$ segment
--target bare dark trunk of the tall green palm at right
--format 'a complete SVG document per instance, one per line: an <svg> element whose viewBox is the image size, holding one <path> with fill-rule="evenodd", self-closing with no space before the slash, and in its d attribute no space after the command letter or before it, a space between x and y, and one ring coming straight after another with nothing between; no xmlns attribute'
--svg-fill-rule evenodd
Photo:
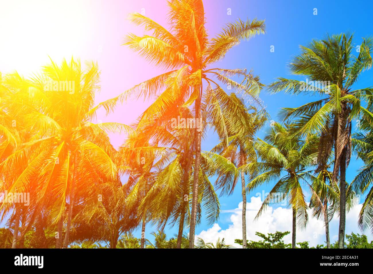
<svg viewBox="0 0 373 274"><path fill-rule="evenodd" d="M345 227L346 227L346 148L343 149L341 155L341 178L340 190L341 193L339 202L339 233L338 247L345 248Z"/></svg>

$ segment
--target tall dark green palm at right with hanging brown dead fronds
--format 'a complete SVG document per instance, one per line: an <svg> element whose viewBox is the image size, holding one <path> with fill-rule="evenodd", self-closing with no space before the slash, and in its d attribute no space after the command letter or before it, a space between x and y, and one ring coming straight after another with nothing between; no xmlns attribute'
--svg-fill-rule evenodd
<svg viewBox="0 0 373 274"><path fill-rule="evenodd" d="M306 81L278 78L269 86L272 92L285 91L292 94L319 95L320 99L298 108L285 108L283 119L302 117L298 124L300 133L307 136L322 134L323 146L334 148L333 183L339 176L340 217L339 248L344 248L346 223L346 169L351 154L351 121L366 113L361 99L370 96L372 88L352 90L359 75L372 67L373 39L363 39L357 56L352 54L355 46L353 35L327 35L323 40L313 40L307 47L300 46L301 54L290 63L295 75L307 77ZM319 159L320 161L320 159Z"/></svg>

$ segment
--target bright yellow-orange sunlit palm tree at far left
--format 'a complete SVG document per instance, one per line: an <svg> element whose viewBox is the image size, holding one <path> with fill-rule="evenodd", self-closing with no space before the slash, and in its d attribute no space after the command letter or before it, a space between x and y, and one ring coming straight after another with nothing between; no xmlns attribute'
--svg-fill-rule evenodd
<svg viewBox="0 0 373 274"><path fill-rule="evenodd" d="M87 193L88 186L97 178L116 180L116 151L106 131L131 130L119 123L90 122L95 117L93 104L98 81L96 64L88 64L87 71L82 71L79 61L63 60L61 66L52 61L43 73L31 80L18 74L9 76L6 100L1 102L10 117L25 121L21 126L31 136L0 163L1 174L8 178L6 189L19 193L34 189L33 202L38 205L35 214L51 206L51 224L63 218L67 203L65 248L69 242L75 193L81 190ZM53 84L57 91L50 88L50 83L57 83ZM68 84L61 89L62 83ZM51 193L53 199L50 199ZM6 205L1 205L4 207Z"/></svg>

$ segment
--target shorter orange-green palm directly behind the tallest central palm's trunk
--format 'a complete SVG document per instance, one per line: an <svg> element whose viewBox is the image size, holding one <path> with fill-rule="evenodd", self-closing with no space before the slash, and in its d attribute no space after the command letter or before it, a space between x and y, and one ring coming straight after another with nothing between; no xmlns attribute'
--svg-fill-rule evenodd
<svg viewBox="0 0 373 274"><path fill-rule="evenodd" d="M183 230L186 223L190 220L189 201L192 194L192 184L190 175L193 171L193 150L194 129L191 127L176 126L170 123L172 117L178 113L180 119L192 119L192 113L189 108L178 107L170 108L167 113L156 117L151 123L143 129L137 128L141 133L138 138L154 139L163 149L163 154L159 161L154 164L158 170L156 183L148 191L147 195L140 204L150 207L150 212L155 223L161 230L170 220L170 226L179 222L179 232L177 237L177 248L181 248L183 239ZM215 165L206 161L204 153L201 154L201 169L199 174L197 204L197 222L201 219L201 207L204 207L207 213L209 224L214 223L219 216L219 201L213 186L209 181L209 174L214 173Z"/></svg>

